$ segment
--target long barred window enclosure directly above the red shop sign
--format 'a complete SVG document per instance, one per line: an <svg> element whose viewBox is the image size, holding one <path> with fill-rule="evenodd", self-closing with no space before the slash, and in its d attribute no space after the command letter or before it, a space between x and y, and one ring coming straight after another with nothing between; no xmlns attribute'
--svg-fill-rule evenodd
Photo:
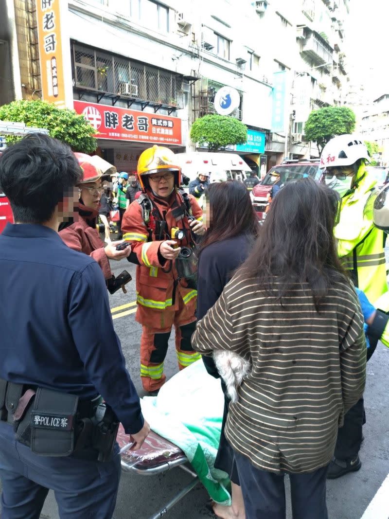
<svg viewBox="0 0 389 519"><path fill-rule="evenodd" d="M129 102L182 108L183 77L99 49L73 44L74 88ZM100 98L100 99L99 99Z"/></svg>

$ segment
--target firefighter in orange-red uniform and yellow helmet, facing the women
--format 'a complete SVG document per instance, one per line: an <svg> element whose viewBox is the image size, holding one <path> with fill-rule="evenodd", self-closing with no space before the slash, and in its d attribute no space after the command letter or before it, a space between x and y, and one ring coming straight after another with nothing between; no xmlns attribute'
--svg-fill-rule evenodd
<svg viewBox="0 0 389 519"><path fill-rule="evenodd" d="M197 290L191 276L184 275L191 270L193 246L205 229L198 202L179 189L181 171L169 148L146 149L139 157L137 175L142 195L124 213L122 230L124 240L131 243L129 261L137 264L142 383L156 394L165 381L163 362L173 324L179 369L201 357L190 342L196 327Z"/></svg>

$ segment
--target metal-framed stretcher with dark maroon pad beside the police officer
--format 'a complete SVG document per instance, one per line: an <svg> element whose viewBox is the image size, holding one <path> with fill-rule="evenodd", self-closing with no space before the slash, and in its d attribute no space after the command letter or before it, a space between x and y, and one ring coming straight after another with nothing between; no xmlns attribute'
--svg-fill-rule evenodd
<svg viewBox="0 0 389 519"><path fill-rule="evenodd" d="M165 503L158 512L150 515L148 519L163 517L199 483L197 474L185 465L188 462L188 458L183 450L169 440L162 438L156 432L150 431L142 447L139 450L132 451L129 450L132 445L130 436L124 432L120 424L117 442L120 448L121 468L124 472L135 472L144 476L152 476L179 467L192 476L192 480L188 485L182 488L173 499Z"/></svg>

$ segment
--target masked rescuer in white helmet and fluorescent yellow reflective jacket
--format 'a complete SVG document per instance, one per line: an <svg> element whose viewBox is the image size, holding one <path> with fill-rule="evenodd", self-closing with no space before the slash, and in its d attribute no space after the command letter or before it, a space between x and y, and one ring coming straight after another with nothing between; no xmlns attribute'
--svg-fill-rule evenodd
<svg viewBox="0 0 389 519"><path fill-rule="evenodd" d="M375 301L387 292L387 282L384 234L374 227L372 214L365 210L377 184L366 170L368 160L366 145L357 136L349 134L331 139L320 159L321 168L325 168L326 184L341 197L339 223L334 231L339 257L355 286ZM371 338L371 342L373 340ZM362 398L346 413L344 425L338 431L335 457L328 469L329 479L360 469L358 453L364 421Z"/></svg>

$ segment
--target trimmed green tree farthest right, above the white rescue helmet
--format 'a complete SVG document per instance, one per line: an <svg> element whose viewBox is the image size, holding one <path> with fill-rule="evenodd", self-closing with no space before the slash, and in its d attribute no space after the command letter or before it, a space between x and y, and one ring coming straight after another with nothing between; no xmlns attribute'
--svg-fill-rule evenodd
<svg viewBox="0 0 389 519"><path fill-rule="evenodd" d="M326 106L309 114L305 122L304 135L307 141L317 144L321 154L324 146L335 135L352 133L355 128L355 114L346 106Z"/></svg>

